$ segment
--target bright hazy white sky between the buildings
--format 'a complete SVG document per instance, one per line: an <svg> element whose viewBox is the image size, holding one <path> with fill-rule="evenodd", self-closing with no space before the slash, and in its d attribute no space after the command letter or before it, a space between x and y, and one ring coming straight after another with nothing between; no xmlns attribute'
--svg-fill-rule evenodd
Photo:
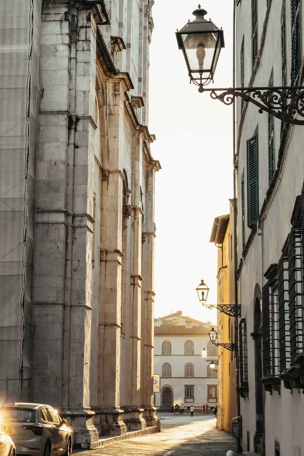
<svg viewBox="0 0 304 456"><path fill-rule="evenodd" d="M206 18L224 30L214 88L232 86L233 1L201 4ZM217 248L209 240L214 218L229 213L233 197L232 108L189 83L175 31L194 19L197 5L155 0L152 8L149 131L162 167L155 175L155 317L182 310L216 322L216 311L203 310L196 286L203 278L210 288L207 304L216 304Z"/></svg>

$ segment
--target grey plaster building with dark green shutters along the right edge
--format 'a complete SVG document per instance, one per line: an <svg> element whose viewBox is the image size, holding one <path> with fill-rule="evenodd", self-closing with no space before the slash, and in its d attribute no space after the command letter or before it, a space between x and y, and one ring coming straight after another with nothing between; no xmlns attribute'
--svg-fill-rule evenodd
<svg viewBox="0 0 304 456"><path fill-rule="evenodd" d="M242 0L236 12L236 87L303 86L304 2ZM248 379L241 399L242 447L267 456L299 455L304 127L261 115L254 104L238 100L237 277Z"/></svg>

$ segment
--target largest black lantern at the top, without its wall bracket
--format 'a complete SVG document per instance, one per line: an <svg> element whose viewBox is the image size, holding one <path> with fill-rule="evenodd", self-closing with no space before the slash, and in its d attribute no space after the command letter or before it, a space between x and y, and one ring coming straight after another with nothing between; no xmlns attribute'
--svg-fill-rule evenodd
<svg viewBox="0 0 304 456"><path fill-rule="evenodd" d="M191 82L199 86L199 92L203 92L203 86L213 81L216 63L224 44L224 33L204 16L207 11L198 9L192 13L195 20L188 23L176 32L179 49L182 49L188 68Z"/></svg>

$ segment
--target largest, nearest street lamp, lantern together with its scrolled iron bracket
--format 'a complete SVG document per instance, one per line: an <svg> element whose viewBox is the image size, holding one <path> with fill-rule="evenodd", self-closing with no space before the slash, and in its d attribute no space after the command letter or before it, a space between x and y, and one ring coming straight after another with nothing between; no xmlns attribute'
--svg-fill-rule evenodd
<svg viewBox="0 0 304 456"><path fill-rule="evenodd" d="M192 14L196 19L189 20L177 31L176 38L185 57L190 83L198 85L199 92L211 92L211 98L227 105L232 104L235 97L240 97L258 106L260 114L266 111L289 124L304 125L303 86L205 88L213 82L216 63L224 47L224 33L213 22L204 19L207 13L201 5ZM302 119L294 119L294 114L299 114Z"/></svg>

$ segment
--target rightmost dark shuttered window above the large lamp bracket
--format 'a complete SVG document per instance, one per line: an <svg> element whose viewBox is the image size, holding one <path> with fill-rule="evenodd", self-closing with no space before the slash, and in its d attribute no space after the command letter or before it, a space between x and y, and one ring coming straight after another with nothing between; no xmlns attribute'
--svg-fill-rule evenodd
<svg viewBox="0 0 304 456"><path fill-rule="evenodd" d="M295 85L301 67L301 18L300 0L291 0L291 85Z"/></svg>

